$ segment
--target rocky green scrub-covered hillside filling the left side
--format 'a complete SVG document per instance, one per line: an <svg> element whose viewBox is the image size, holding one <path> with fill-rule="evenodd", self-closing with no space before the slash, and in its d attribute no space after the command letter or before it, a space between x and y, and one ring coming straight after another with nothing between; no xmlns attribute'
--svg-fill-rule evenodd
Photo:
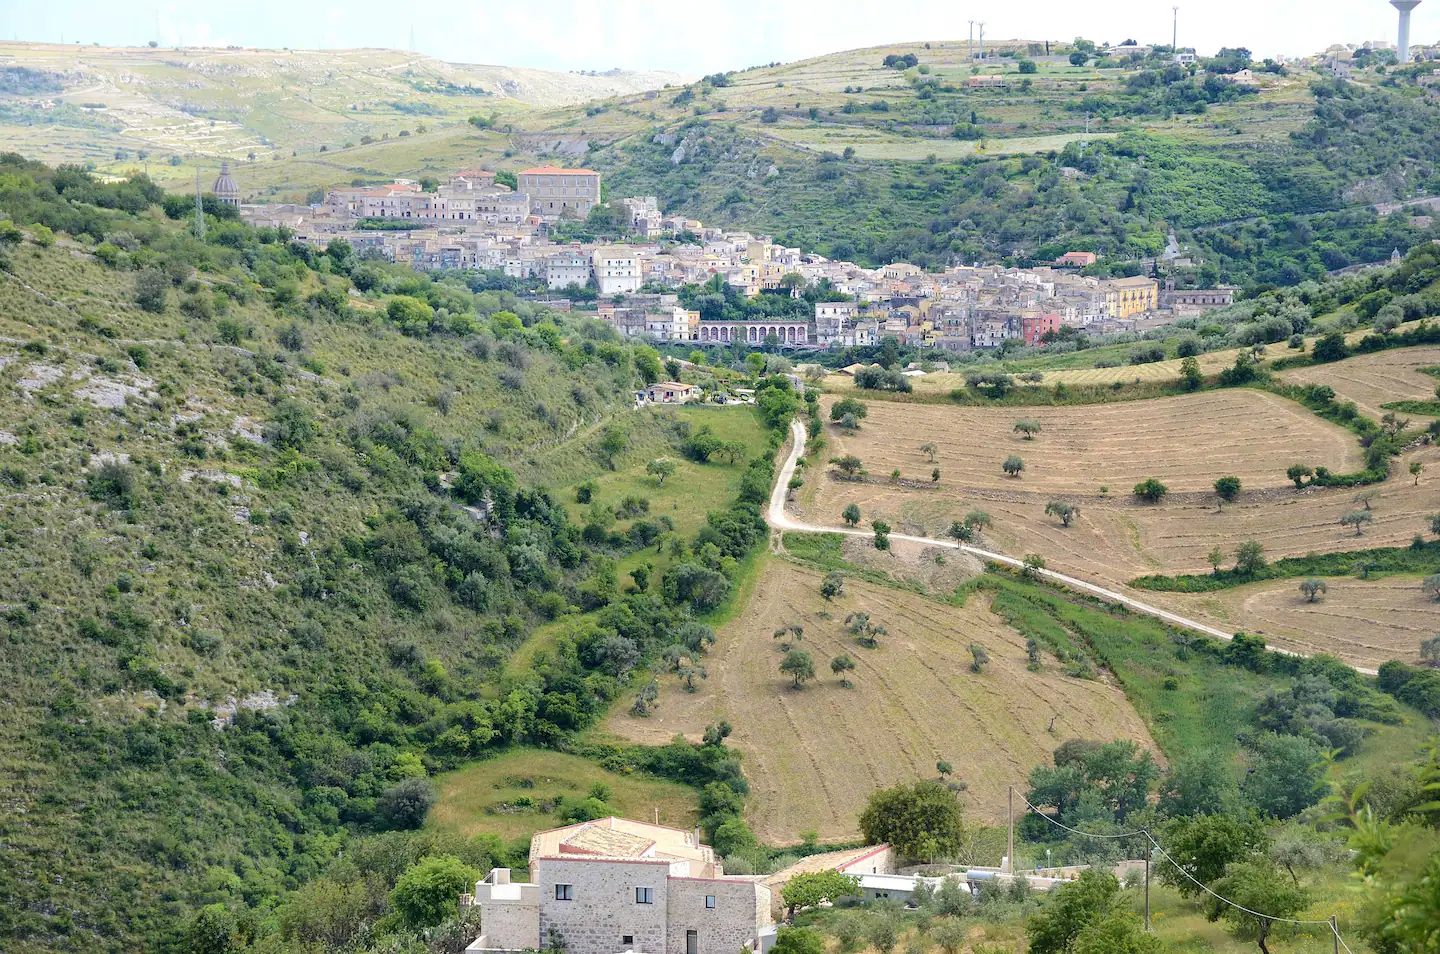
<svg viewBox="0 0 1440 954"><path fill-rule="evenodd" d="M144 179L0 157L0 945L454 941L425 886L516 849L413 833L428 777L573 748L662 650L703 653L770 453L706 464L740 496L693 536L638 503L572 520L547 483L690 434L631 411L654 352L212 212L202 241ZM798 406L783 378L760 395L770 425ZM622 581L651 546L662 576ZM592 755L719 784L714 829L743 803L723 742Z"/></svg>

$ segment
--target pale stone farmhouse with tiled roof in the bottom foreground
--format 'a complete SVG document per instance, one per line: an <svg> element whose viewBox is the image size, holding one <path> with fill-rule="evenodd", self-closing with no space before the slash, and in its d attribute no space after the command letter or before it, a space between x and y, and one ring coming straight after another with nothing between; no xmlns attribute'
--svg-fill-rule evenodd
<svg viewBox="0 0 1440 954"><path fill-rule="evenodd" d="M697 833L615 817L539 832L528 882L497 868L461 905L485 931L469 951L737 954L772 934L770 889L727 876Z"/></svg>

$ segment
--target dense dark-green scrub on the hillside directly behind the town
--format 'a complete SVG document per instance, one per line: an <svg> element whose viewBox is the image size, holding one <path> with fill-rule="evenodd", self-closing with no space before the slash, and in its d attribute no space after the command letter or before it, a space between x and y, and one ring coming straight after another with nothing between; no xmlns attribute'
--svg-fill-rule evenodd
<svg viewBox="0 0 1440 954"><path fill-rule="evenodd" d="M596 148L588 161L619 193L657 195L667 209L707 223L744 225L870 265L1048 261L1073 248L1125 265L1158 255L1175 228L1205 255L1201 284L1293 285L1436 235L1405 216L1354 208L1436 189L1427 138L1440 128L1436 102L1414 88L1338 79L1310 92L1315 110L1303 130L1244 150L1123 133L1025 157L906 163L821 153L776 161L746 127L697 115ZM1155 68L1063 105L1099 118L1169 115L1246 97L1220 76L1197 82L1178 68ZM973 117L963 98L945 107L935 97L876 104L888 107L887 124L913 107L920 112L910 121L953 124L956 134ZM865 124L848 115L844 122Z"/></svg>

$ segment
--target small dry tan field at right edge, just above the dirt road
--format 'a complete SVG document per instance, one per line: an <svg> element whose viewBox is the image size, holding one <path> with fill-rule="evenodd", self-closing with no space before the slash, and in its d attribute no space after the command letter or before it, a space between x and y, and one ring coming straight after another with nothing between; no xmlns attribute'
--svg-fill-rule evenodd
<svg viewBox="0 0 1440 954"><path fill-rule="evenodd" d="M1440 611L1414 576L1328 579L1329 592L1309 602L1297 579L1273 579L1207 594L1146 594L1162 607L1257 633L1267 643L1308 653L1335 653L1377 669L1392 659L1417 661L1420 640L1440 634Z"/></svg>

